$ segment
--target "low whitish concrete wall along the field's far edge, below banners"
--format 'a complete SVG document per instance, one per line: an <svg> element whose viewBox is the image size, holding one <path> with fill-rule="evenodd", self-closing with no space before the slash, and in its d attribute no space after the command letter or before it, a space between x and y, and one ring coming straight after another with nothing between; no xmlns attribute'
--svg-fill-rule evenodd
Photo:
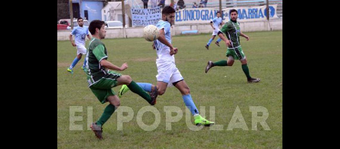
<svg viewBox="0 0 340 149"><path fill-rule="evenodd" d="M240 25L242 32L282 30L282 19L270 20L270 25L267 21L240 22ZM174 25L171 28L171 35L180 35L182 31L190 30L198 30L199 33L212 33L210 24L191 24ZM143 27L129 27L125 28L125 31L123 32L123 29L106 29L105 38L143 37ZM57 40L69 40L70 33L70 30L57 31Z"/></svg>

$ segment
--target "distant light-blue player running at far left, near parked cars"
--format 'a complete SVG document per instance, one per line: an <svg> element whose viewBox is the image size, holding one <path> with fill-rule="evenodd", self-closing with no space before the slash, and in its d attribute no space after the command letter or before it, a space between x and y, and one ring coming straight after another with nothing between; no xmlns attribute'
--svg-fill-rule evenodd
<svg viewBox="0 0 340 149"><path fill-rule="evenodd" d="M72 21L72 20L71 20ZM69 38L73 46L77 46L77 57L74 58L71 66L67 68L67 71L73 74L73 67L75 64L78 63L78 61L82 58L83 54L86 54L86 48L85 48L85 36L87 35L88 39L90 38L90 35L88 34L88 26L84 26L83 18L77 19L78 26L74 27L72 30ZM74 42L72 40L72 35L75 35ZM84 69L86 66L86 59L84 60L84 64L82 69Z"/></svg>

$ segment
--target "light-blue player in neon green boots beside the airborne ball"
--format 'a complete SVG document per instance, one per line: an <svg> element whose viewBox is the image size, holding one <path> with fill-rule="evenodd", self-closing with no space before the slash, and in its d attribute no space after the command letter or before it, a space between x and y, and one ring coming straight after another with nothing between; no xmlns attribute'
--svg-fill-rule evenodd
<svg viewBox="0 0 340 149"><path fill-rule="evenodd" d="M171 44L170 28L174 22L175 10L171 6L165 6L162 10L162 20L159 20L156 24L159 30L159 37L154 41L154 47L157 52L156 66L157 72L157 91L158 95L163 95L167 87L175 86L182 94L183 101L191 114L194 116L194 124L197 126L211 126L215 124L209 120L203 118L195 104L192 101L190 89L184 81L181 72L175 65L174 55L177 53L177 48L174 48ZM148 83L147 85L139 85L145 91L151 91L154 85ZM128 91L126 86L123 86L119 92L120 95Z"/></svg>

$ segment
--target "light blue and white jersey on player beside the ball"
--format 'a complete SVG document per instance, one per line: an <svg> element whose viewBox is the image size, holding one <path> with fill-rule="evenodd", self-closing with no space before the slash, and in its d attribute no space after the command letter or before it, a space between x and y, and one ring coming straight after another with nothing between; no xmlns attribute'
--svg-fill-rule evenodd
<svg viewBox="0 0 340 149"><path fill-rule="evenodd" d="M164 28L165 39L168 40L168 42L171 44L170 23L167 21L159 20L156 26L158 30ZM154 41L154 44L157 52L156 63L161 63L165 61L175 62L175 56L170 55L170 48L167 45L161 43L158 39Z"/></svg>

